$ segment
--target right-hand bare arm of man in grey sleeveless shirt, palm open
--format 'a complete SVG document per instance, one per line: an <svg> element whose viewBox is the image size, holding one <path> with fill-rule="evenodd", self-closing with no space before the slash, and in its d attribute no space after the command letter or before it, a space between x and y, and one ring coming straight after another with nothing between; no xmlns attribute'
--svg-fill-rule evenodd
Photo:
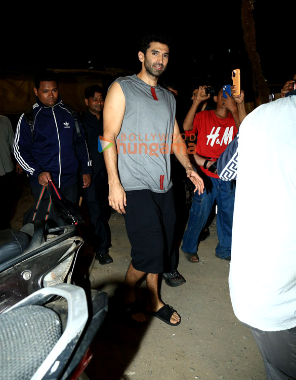
<svg viewBox="0 0 296 380"><path fill-rule="evenodd" d="M176 141L173 142L173 152L180 163L184 166L187 177L190 178L191 182L195 185L194 192L198 190L198 194L203 193L203 180L193 169L193 166L189 160L187 146L180 135L179 126L176 119L174 125L174 135L176 136Z"/></svg>

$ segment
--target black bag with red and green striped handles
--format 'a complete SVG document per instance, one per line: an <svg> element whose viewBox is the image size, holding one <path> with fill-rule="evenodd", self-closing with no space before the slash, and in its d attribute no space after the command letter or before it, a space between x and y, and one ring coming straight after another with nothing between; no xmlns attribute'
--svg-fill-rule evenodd
<svg viewBox="0 0 296 380"><path fill-rule="evenodd" d="M44 199L47 192L49 198ZM83 219L73 203L63 199L51 181L41 189L38 201L25 213L23 225L32 220L44 220L48 228L83 224Z"/></svg>

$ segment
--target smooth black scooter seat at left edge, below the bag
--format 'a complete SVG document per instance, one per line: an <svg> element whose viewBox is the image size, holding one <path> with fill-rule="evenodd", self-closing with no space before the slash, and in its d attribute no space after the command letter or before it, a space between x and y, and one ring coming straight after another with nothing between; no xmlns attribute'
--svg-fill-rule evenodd
<svg viewBox="0 0 296 380"><path fill-rule="evenodd" d="M0 264L23 253L31 243L31 237L17 230L0 231Z"/></svg>

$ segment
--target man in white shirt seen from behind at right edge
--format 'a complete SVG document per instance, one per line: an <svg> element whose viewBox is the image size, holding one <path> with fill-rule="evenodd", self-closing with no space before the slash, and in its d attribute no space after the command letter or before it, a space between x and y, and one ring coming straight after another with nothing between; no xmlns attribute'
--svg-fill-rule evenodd
<svg viewBox="0 0 296 380"><path fill-rule="evenodd" d="M237 178L232 306L272 380L296 378L296 96L290 94L250 113L217 164L221 179Z"/></svg>

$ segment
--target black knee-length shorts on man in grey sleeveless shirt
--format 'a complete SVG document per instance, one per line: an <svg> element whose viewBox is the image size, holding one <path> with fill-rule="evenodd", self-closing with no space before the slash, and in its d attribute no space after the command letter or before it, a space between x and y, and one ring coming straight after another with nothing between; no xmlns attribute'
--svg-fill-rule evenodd
<svg viewBox="0 0 296 380"><path fill-rule="evenodd" d="M176 214L173 189L126 191L125 227L132 246L133 267L162 273L172 253Z"/></svg>

